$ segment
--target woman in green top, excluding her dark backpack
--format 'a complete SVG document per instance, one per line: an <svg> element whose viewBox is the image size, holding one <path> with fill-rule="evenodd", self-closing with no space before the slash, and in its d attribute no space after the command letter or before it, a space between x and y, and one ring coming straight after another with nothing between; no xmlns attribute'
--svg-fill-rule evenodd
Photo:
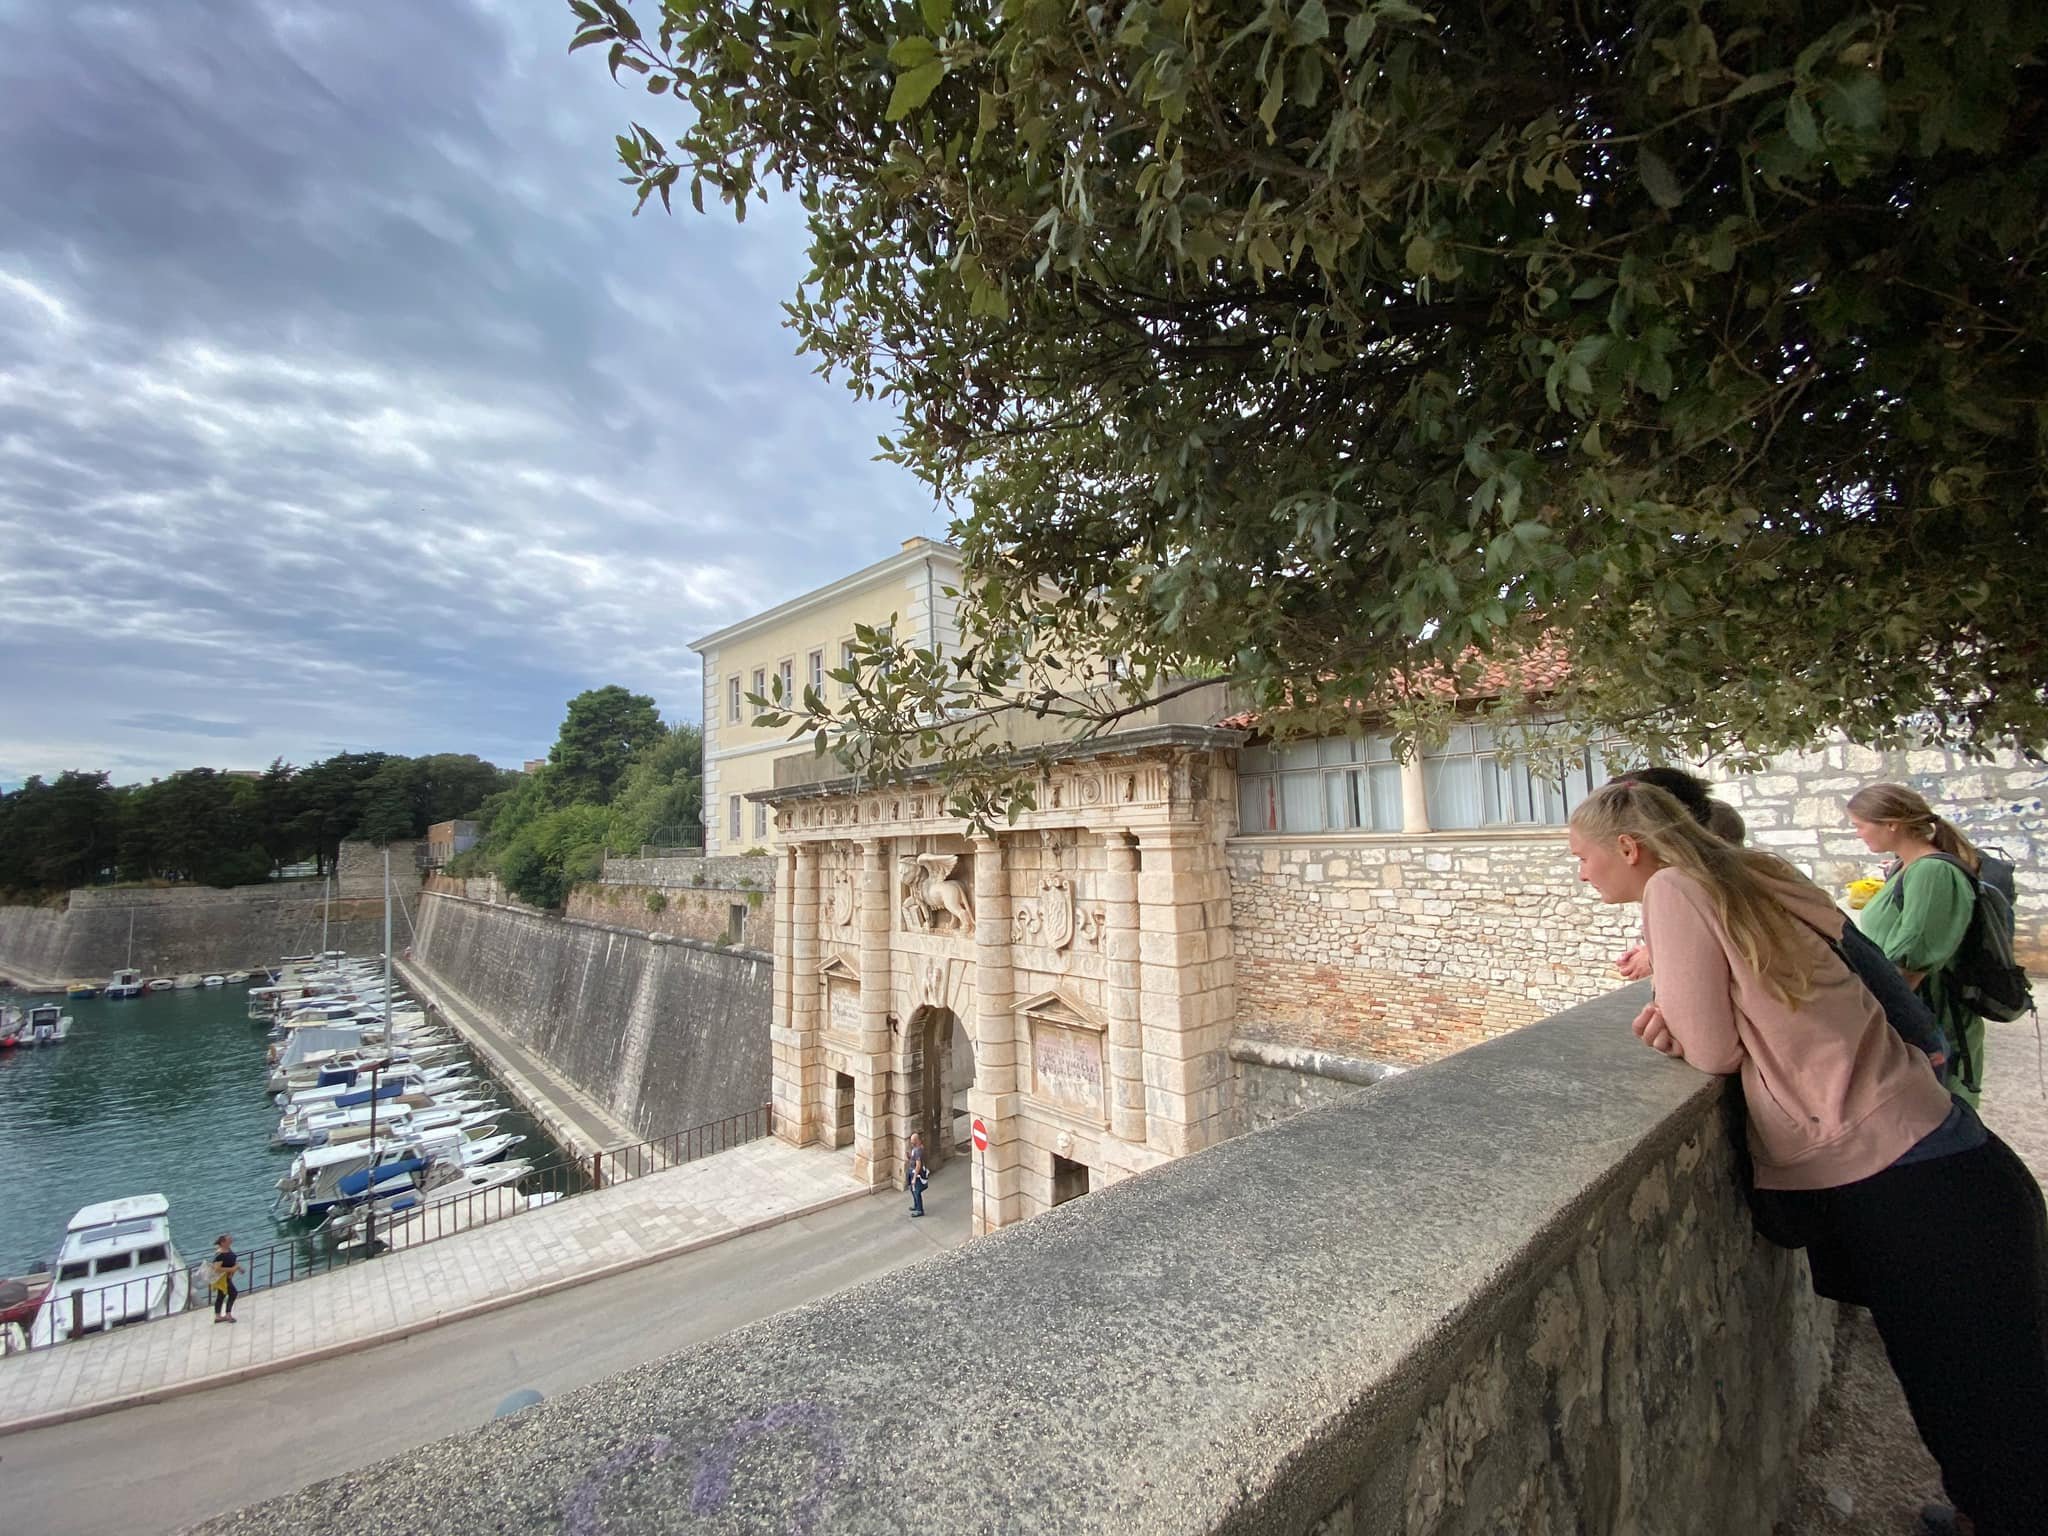
<svg viewBox="0 0 2048 1536"><path fill-rule="evenodd" d="M1933 1012L1948 1036L1950 1090L1976 1108L1985 1087L1985 1020L1962 1006L1948 967L1970 932L1982 860L1968 838L1905 784L1855 791L1849 825L1864 848L1896 860L1884 889L1864 903L1864 934Z"/></svg>

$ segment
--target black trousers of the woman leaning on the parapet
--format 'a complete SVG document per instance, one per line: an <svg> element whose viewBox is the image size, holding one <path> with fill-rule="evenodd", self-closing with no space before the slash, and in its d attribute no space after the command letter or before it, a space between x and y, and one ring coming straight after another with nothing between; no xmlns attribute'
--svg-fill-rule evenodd
<svg viewBox="0 0 2048 1536"><path fill-rule="evenodd" d="M2048 1532L2048 1206L1997 1137L1835 1190L1757 1190L1812 1288L1868 1307L1950 1501L1980 1536Z"/></svg>

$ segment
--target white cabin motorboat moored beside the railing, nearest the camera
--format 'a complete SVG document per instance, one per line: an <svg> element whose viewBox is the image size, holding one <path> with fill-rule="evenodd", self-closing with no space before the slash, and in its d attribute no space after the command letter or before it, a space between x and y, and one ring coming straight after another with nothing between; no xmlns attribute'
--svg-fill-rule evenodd
<svg viewBox="0 0 2048 1536"><path fill-rule="evenodd" d="M170 1200L135 1194L82 1206L63 1229L57 1278L43 1298L29 1337L61 1343L123 1323L180 1313L193 1276L170 1241Z"/></svg>

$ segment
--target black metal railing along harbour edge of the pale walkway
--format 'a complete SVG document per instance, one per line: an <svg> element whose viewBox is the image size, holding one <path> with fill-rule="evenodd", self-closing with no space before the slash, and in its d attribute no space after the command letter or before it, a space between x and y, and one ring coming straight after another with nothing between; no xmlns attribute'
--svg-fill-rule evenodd
<svg viewBox="0 0 2048 1536"><path fill-rule="evenodd" d="M510 1180L494 1188L469 1190L465 1194L442 1194L438 1198L432 1190L428 1190L422 1202L410 1210L371 1210L356 1206L354 1221L350 1221L344 1229L346 1241L322 1245L319 1233L326 1231L326 1227L322 1227L238 1253L240 1268L236 1272L236 1290L244 1296L254 1290L274 1290L276 1286L291 1284L293 1280L309 1280L315 1274L328 1274L330 1270L360 1264L362 1260L399 1247L418 1247L420 1243L430 1243L438 1237L453 1237L498 1221L510 1221L512 1217L526 1214L528 1210L543 1210L575 1194L588 1194L614 1184L631 1184L633 1180L647 1178L649 1174L682 1167L684 1163L692 1163L700 1157L711 1157L713 1153L731 1151L733 1147L741 1147L750 1141L760 1141L772 1133L774 1106L764 1104L758 1110L729 1114L723 1120L690 1126L688 1130L674 1130L666 1137L655 1137L653 1141L639 1141L625 1147L604 1147L590 1153L590 1157L545 1163L528 1169L518 1180ZM483 1167L489 1167L489 1163ZM365 1214L367 1210L369 1214ZM211 1260L188 1264L184 1268L186 1296L184 1305L176 1311L203 1311L213 1305L213 1290L207 1276ZM152 1288L164 1290L162 1305L152 1300ZM70 1343L74 1337L92 1337L94 1333L115 1327L135 1327L139 1323L152 1323L160 1317L170 1317L170 1276L158 1274L139 1280L115 1280L104 1286L88 1286L57 1300L49 1300L45 1296L43 1307L59 1307L68 1311L66 1325L70 1331L61 1339L45 1337L37 1343L35 1319L31 1319L31 1323L25 1325L25 1331L29 1333L27 1348L49 1350L57 1343ZM117 1298L111 1292L123 1294ZM109 1317L113 1321L106 1321ZM49 1331L53 1333L53 1329Z"/></svg>

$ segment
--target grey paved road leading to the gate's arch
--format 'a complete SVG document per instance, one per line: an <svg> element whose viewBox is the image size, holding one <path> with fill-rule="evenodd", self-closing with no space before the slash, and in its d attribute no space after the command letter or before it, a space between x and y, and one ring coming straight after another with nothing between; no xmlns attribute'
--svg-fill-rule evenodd
<svg viewBox="0 0 2048 1536"><path fill-rule="evenodd" d="M926 1198L926 1221L885 1192L401 1343L0 1436L0 1528L172 1532L471 1430L520 1389L559 1397L967 1241L967 1163Z"/></svg>

